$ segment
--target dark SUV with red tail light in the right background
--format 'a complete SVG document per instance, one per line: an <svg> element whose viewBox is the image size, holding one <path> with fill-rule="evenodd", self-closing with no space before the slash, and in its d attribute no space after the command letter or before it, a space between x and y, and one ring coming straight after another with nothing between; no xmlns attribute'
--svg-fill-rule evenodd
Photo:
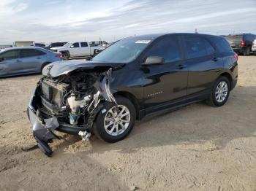
<svg viewBox="0 0 256 191"><path fill-rule="evenodd" d="M255 34L233 34L226 36L227 42L237 53L249 55L252 51L253 41L256 39Z"/></svg>

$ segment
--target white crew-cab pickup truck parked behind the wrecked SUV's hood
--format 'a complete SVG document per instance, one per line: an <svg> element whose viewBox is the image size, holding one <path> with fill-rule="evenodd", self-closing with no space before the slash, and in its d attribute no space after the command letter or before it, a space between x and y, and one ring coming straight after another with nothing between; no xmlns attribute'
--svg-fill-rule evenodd
<svg viewBox="0 0 256 191"><path fill-rule="evenodd" d="M53 52L61 52L64 58L79 56L92 56L97 54L97 50L103 50L102 46L91 46L88 42L68 42L63 47L50 48Z"/></svg>

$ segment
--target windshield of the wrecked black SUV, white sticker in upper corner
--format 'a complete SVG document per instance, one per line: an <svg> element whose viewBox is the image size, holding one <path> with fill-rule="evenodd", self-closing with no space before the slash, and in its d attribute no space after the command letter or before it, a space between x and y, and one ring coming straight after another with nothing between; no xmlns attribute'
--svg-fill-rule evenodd
<svg viewBox="0 0 256 191"><path fill-rule="evenodd" d="M92 61L128 63L134 61L150 42L148 39L122 39L100 52Z"/></svg>

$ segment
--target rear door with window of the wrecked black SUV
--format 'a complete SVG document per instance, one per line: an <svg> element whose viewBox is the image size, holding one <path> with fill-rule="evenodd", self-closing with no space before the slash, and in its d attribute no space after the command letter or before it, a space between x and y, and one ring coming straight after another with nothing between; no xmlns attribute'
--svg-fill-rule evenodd
<svg viewBox="0 0 256 191"><path fill-rule="evenodd" d="M189 70L187 94L210 90L223 68L221 55L204 36L184 36Z"/></svg>

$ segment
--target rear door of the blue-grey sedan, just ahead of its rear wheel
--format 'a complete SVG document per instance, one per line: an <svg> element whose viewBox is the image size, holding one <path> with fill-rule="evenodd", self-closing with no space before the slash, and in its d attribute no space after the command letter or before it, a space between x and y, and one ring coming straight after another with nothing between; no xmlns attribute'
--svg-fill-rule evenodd
<svg viewBox="0 0 256 191"><path fill-rule="evenodd" d="M36 49L20 49L20 61L25 72L39 72L46 53Z"/></svg>

